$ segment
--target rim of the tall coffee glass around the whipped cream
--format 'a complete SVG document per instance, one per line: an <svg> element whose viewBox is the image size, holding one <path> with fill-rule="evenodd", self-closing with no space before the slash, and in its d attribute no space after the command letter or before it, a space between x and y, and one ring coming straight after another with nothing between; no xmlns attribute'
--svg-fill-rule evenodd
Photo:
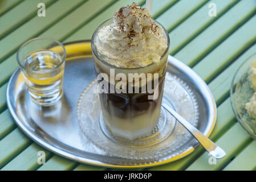
<svg viewBox="0 0 256 182"><path fill-rule="evenodd" d="M97 59L99 59L102 63L107 64L109 67L118 68L118 69L125 69L125 70L127 70L127 69L147 68L147 67L150 67L151 65L155 64L155 63L151 63L151 64L149 64L149 65L147 65L147 66L145 66L145 67L137 67L137 68L122 68L122 67L116 67L116 66L113 65L113 64L107 63L107 61L105 61L104 59L102 59L102 58L100 57L100 55L99 55L99 54L97 53L97 51L96 51L96 47L95 47L95 44L94 44L94 38L95 38L95 36L96 36L97 31L100 30L100 28L103 26L103 24L105 24L106 22L108 22L109 20L112 20L112 19L113 19L113 18L109 18L109 19L105 20L103 23L101 23L101 24L96 28L96 30L94 31L94 34L92 34L91 47L92 47L92 52L93 52L94 55L97 57ZM166 55L166 53L168 53L168 51L169 51L169 47L170 47L169 33L168 33L168 31L164 28L164 26L162 26L161 23L157 22L157 20L155 20L155 19L153 19L153 20L154 20L157 24L159 24L159 25L162 27L162 29L164 30L164 32L165 32L165 34L166 34L167 48L165 49L164 53L162 53L162 55L161 55L161 58L160 58L160 59L162 59L162 57L164 57L164 56Z"/></svg>

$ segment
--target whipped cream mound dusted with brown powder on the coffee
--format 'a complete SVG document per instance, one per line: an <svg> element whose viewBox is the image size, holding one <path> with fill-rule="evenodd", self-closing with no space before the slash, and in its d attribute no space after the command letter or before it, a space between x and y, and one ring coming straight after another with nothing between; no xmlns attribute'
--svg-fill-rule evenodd
<svg viewBox="0 0 256 182"><path fill-rule="evenodd" d="M113 23L100 28L95 38L99 56L121 68L159 63L167 48L163 28L149 11L132 3L113 15Z"/></svg>

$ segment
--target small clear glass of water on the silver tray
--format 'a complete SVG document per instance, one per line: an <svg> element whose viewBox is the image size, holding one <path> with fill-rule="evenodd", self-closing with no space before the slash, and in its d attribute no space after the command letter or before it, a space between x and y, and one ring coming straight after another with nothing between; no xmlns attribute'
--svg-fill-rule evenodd
<svg viewBox="0 0 256 182"><path fill-rule="evenodd" d="M32 101L41 106L56 104L63 96L66 49L52 38L35 38L24 43L17 61Z"/></svg>

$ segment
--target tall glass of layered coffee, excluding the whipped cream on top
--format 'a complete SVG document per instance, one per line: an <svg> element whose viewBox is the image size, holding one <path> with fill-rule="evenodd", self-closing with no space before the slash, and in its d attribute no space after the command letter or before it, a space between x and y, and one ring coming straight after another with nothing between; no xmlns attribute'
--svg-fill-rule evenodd
<svg viewBox="0 0 256 182"><path fill-rule="evenodd" d="M160 63L152 63L147 67L140 68L119 68L115 67L115 65L109 64L104 61L99 54L97 53L97 49L95 47L95 38L97 36L97 32L103 26L107 26L112 23L112 19L109 19L102 23L94 32L92 36L92 55L94 57L95 69L97 75L100 73L105 73L108 75L108 92L100 93L100 102L101 102L101 110L103 113L104 122L107 124L109 129L112 131L113 135L127 138L130 140L143 137L151 133L153 128L157 125L160 117L161 111L161 102L162 102L162 94L164 89L164 80L166 73L166 63L168 59L168 50L169 50L169 35L164 27L164 37L166 39L167 48L165 52L162 54ZM111 84L116 86L118 81L111 82L111 72L115 72L115 76L118 73L123 73L128 78L129 73L145 73L146 75L146 85L141 84L140 80L140 92L139 93L120 93L120 92L109 92L109 88L111 88ZM147 73L157 73L158 78L152 76L151 79L148 79ZM112 76L113 77L113 76ZM157 79L157 80L156 80ZM153 88L153 82L158 81L159 84ZM100 81L99 81L100 82ZM127 82L126 88L129 87L129 82ZM141 92L143 86L147 88L147 85L151 84L154 89L153 93ZM134 83L132 85L135 87ZM113 87L112 87L113 88ZM135 88L133 88L135 90ZM156 92L158 92L158 96L154 99L149 99L148 96L153 96Z"/></svg>

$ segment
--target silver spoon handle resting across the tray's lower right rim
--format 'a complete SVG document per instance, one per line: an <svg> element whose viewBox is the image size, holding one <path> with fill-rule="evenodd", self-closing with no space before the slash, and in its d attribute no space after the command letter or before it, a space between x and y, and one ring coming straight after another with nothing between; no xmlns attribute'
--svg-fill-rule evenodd
<svg viewBox="0 0 256 182"><path fill-rule="evenodd" d="M214 158L221 159L226 155L226 152L222 150L221 147L217 146L212 142L209 138L205 137L199 130L196 129L193 125L191 125L186 119L184 119L180 114L174 111L171 107L166 104L162 104L162 106L173 115L174 118L178 120L193 136L198 140L199 143L208 151Z"/></svg>

